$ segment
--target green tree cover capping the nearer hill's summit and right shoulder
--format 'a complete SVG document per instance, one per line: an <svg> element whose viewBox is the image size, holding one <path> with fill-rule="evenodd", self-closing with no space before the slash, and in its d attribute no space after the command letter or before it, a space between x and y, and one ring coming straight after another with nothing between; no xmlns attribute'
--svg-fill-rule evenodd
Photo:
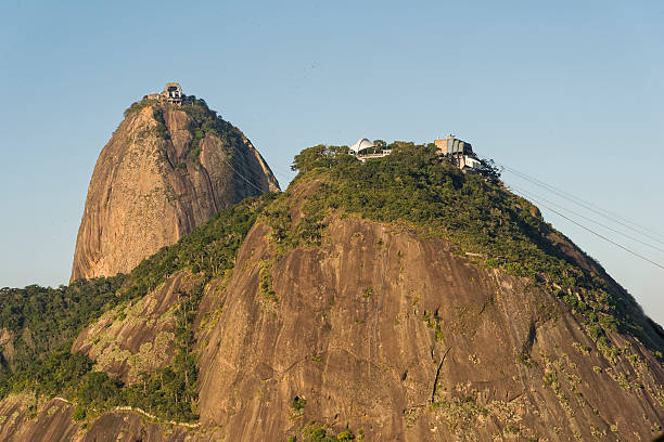
<svg viewBox="0 0 664 442"><path fill-rule="evenodd" d="M334 216L416 229L462 251L482 253L488 266L529 277L559 296L583 316L609 360L615 348L605 330L630 334L657 350L651 338L656 325L646 322L634 299L565 255L558 243L567 239L542 220L534 205L505 190L496 176L463 174L440 160L432 144L395 142L388 147L392 155L365 164L347 155L346 146L318 145L295 156L293 169L299 174L294 184L316 180L318 190L304 203L305 217L293 231L288 210L270 207L274 243L285 249L320 244L327 221ZM495 168L491 161L483 164Z"/></svg>

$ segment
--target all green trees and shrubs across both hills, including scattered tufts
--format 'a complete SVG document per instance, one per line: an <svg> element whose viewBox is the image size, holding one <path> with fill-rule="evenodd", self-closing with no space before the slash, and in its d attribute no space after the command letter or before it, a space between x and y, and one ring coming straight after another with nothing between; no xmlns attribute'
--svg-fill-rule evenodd
<svg viewBox="0 0 664 442"><path fill-rule="evenodd" d="M193 98L181 108L196 122L194 139L199 142L212 133L230 143L226 145L233 145L242 136L202 100ZM272 227L268 238L272 257L261 263L259 273L259 290L270 301L279 300L270 276L273 264L293 248L322 245L332 219L356 216L410 230L420 237L444 238L459 253L480 253L486 257L487 266L531 278L583 316L586 333L611 363L616 362L621 350L610 342L608 332L628 333L651 346L654 325L642 322L634 300L603 275L583 270L563 253L557 243L566 238L544 222L535 206L506 191L491 177L461 173L440 160L433 145L397 142L388 147L392 155L366 164L347 155L345 146L305 150L295 157L293 167L299 174L289 191L247 198L220 211L176 245L143 260L129 275L75 282L60 288L1 289L0 328L9 336L12 351L4 346L0 360L0 396L22 390L47 398L62 395L76 404L76 419L115 405L141 407L168 419L196 419L193 318L206 283L232 271L238 250L257 221ZM315 186L316 192L299 195L307 186ZM388 248L382 243L379 246ZM71 352L73 339L82 327L105 311L145 296L179 271L194 274L199 285L180 296L175 354L168 366L143 373L139 382L125 386L94 370L85 355ZM367 287L358 295L369 299L375 294L380 290ZM413 306L418 300L414 296ZM442 341L437 312L425 312L423 321ZM580 343L575 348L584 354L592 351ZM527 353L515 356L532 366ZM478 362L473 355L469 360ZM312 361L322 359L314 356ZM633 365L638 363L633 361ZM560 392L556 370L547 368L544 381ZM305 404L304 399L297 399L291 406L302 413ZM457 404L454 410L459 407L475 413L469 404ZM302 435L305 441L355 439L349 430L330 434L316 424L305 427Z"/></svg>

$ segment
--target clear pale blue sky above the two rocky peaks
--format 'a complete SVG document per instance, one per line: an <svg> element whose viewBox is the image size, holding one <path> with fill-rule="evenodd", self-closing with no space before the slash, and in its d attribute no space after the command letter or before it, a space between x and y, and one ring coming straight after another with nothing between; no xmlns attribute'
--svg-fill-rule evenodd
<svg viewBox="0 0 664 442"><path fill-rule="evenodd" d="M662 2L4 0L0 13L0 286L66 283L94 161L123 110L166 81L240 127L284 186L310 145L454 132L664 231ZM664 323L664 270L544 214Z"/></svg>

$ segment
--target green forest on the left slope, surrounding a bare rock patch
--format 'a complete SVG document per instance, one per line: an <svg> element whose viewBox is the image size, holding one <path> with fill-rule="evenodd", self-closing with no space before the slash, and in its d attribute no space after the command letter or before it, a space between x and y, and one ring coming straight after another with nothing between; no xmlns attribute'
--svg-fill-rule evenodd
<svg viewBox="0 0 664 442"><path fill-rule="evenodd" d="M233 268L238 249L257 214L273 198L273 194L247 198L218 212L174 246L142 261L129 275L77 281L58 289L28 286L0 290L0 326L15 335L16 349L11 359L3 359L0 398L23 390L46 398L61 395L76 403L77 419L112 406L130 405L167 419L195 420L193 318L204 285ZM124 386L94 370L87 356L71 352L73 338L86 325L122 302L143 297L178 271L196 274L201 283L181 294L171 364L143 374L138 384Z"/></svg>

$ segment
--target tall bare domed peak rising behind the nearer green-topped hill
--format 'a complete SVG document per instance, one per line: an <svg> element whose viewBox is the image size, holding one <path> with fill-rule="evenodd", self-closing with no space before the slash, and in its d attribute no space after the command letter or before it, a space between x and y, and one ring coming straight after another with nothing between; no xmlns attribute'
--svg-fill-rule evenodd
<svg viewBox="0 0 664 442"><path fill-rule="evenodd" d="M97 160L72 281L128 273L217 211L278 190L248 139L203 100L146 96Z"/></svg>

